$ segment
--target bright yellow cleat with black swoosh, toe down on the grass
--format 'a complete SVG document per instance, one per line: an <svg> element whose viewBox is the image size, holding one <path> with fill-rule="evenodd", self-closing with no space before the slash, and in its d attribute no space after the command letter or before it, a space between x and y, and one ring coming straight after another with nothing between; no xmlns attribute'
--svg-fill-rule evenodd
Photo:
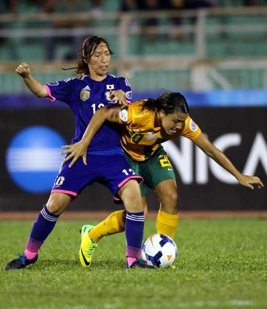
<svg viewBox="0 0 267 309"><path fill-rule="evenodd" d="M88 232L91 228L93 225L88 224L84 225L81 230L80 262L83 267L90 267L93 252L98 244L89 238Z"/></svg>

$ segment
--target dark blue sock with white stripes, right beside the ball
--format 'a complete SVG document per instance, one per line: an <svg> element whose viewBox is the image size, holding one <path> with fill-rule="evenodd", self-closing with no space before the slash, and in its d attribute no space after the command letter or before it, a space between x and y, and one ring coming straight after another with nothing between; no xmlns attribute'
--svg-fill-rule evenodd
<svg viewBox="0 0 267 309"><path fill-rule="evenodd" d="M139 259L144 236L145 215L141 212L126 212L125 235L126 257Z"/></svg>

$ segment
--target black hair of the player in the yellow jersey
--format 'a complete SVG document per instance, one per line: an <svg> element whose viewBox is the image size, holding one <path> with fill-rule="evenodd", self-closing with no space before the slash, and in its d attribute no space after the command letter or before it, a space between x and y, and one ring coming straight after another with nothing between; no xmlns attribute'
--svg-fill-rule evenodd
<svg viewBox="0 0 267 309"><path fill-rule="evenodd" d="M141 111L159 112L163 110L165 114L183 113L189 114L189 107L186 99L179 92L165 92L157 99L149 98L141 103Z"/></svg>

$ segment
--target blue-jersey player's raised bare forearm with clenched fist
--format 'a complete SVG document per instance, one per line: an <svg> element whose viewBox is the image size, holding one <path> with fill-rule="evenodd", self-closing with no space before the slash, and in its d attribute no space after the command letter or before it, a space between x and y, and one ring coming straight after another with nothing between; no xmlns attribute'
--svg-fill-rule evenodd
<svg viewBox="0 0 267 309"><path fill-rule="evenodd" d="M32 77L30 73L30 66L27 63L21 62L15 71L23 78L25 85L33 94L39 98L48 97L48 92L45 86Z"/></svg>

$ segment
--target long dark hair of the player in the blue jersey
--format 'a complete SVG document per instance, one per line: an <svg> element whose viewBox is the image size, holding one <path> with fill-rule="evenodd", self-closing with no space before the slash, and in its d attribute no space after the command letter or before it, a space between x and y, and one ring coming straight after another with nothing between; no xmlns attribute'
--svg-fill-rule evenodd
<svg viewBox="0 0 267 309"><path fill-rule="evenodd" d="M73 75L77 75L79 78L84 75L90 76L89 67L85 60L87 62L90 60L92 54L94 53L94 50L101 42L103 42L107 46L110 54L113 55L114 52L109 48L107 41L103 37L92 35L87 37L82 43L80 50L78 51L78 60L76 66L70 68L63 68L63 70L74 69L75 72Z"/></svg>

